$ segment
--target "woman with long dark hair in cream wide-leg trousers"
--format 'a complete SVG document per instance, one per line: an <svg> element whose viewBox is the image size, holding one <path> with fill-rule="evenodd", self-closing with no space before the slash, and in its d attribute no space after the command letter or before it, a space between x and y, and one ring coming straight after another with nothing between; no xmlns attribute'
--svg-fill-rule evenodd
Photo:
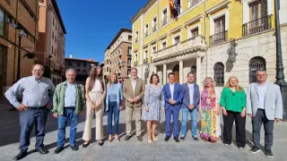
<svg viewBox="0 0 287 161"><path fill-rule="evenodd" d="M96 140L98 140L99 145L102 146L104 144L102 141L102 119L104 112L103 102L106 96L106 86L103 78L101 77L100 66L94 66L91 68L90 77L86 80L85 89L85 97L87 99L87 115L83 131L83 148L88 147L89 140L91 140L91 121L93 114L96 114Z"/></svg>

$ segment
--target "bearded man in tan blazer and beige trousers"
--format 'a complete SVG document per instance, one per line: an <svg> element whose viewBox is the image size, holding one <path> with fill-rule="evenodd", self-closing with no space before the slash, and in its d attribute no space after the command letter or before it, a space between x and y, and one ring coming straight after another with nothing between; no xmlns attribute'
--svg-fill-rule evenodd
<svg viewBox="0 0 287 161"><path fill-rule="evenodd" d="M136 68L131 69L131 79L125 80L123 85L123 96L126 98L126 138L132 137L132 119L135 117L135 129L137 140L142 141L141 117L142 117L142 97L144 95L144 81L137 77Z"/></svg>

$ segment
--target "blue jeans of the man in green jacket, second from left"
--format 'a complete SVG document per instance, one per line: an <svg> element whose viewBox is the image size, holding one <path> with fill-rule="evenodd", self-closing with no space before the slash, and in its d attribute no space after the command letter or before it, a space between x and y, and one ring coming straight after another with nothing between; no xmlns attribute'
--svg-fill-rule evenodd
<svg viewBox="0 0 287 161"><path fill-rule="evenodd" d="M57 116L57 147L64 147L65 144L65 127L70 120L70 146L75 144L75 134L77 132L78 114L74 114L74 107L65 107L64 114Z"/></svg>

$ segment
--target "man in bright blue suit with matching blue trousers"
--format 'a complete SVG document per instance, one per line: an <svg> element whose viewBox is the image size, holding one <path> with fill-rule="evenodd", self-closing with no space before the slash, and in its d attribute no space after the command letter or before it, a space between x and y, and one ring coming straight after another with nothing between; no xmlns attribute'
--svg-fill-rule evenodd
<svg viewBox="0 0 287 161"><path fill-rule="evenodd" d="M181 108L181 100L183 98L183 90L181 85L174 82L174 74L172 72L168 75L170 83L163 86L164 108L165 108L165 141L170 140L170 119L172 115L173 120L173 138L176 142L178 140L178 115Z"/></svg>

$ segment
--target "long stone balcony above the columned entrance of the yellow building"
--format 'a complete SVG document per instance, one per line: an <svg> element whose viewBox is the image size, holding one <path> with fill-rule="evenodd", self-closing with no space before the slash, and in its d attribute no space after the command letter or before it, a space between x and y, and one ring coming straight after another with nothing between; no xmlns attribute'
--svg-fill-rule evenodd
<svg viewBox="0 0 287 161"><path fill-rule="evenodd" d="M206 45L204 37L197 36L195 38L188 38L184 41L179 42L178 44L154 52L154 55L152 55L152 62L154 63L164 57L178 55L180 53L187 52L188 50L194 50L197 48L205 48L205 47Z"/></svg>

